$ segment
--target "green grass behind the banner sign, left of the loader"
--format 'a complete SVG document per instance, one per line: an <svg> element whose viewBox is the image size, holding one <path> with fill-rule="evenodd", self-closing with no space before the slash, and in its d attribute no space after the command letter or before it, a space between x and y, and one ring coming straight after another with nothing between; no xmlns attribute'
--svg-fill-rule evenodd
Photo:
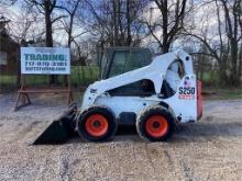
<svg viewBox="0 0 242 181"><path fill-rule="evenodd" d="M72 66L70 82L74 86L86 86L99 78L99 68L97 66ZM48 83L46 75L24 76L25 84L42 86ZM64 76L58 76L58 82L64 82ZM0 87L15 87L16 76L0 75Z"/></svg>

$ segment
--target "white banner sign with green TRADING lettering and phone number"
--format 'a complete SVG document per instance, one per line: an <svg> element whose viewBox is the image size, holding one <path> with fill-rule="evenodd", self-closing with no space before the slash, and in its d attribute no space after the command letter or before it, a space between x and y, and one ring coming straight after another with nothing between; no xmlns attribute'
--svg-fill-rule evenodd
<svg viewBox="0 0 242 181"><path fill-rule="evenodd" d="M69 75L69 48L21 47L21 73Z"/></svg>

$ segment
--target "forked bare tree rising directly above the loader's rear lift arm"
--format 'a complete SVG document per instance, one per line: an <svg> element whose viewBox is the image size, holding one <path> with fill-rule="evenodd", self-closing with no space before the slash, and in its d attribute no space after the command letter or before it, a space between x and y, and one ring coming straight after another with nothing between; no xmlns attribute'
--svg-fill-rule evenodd
<svg viewBox="0 0 242 181"><path fill-rule="evenodd" d="M190 12L187 8L187 0L154 0L155 8L150 8L150 20L143 20L146 24L148 34L158 43L163 53L167 53L174 41L184 31L185 16ZM154 11L158 10L158 11ZM158 13L158 18L153 20L153 13ZM162 34L158 35L158 32Z"/></svg>

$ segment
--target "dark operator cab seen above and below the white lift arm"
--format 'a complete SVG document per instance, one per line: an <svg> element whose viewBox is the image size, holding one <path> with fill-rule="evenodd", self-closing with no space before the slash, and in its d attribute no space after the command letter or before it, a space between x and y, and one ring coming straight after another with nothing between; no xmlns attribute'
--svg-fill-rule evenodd
<svg viewBox="0 0 242 181"><path fill-rule="evenodd" d="M147 48L109 47L106 49L101 60L101 79L108 79L147 66L151 63L152 54ZM140 80L109 90L108 93L112 97L150 97L155 92L153 82L150 82L148 80Z"/></svg>

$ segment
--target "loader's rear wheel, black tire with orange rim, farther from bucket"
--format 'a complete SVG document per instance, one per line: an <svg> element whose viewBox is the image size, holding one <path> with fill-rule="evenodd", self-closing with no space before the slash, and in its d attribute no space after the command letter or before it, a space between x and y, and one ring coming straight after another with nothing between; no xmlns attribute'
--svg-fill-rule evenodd
<svg viewBox="0 0 242 181"><path fill-rule="evenodd" d="M157 117L161 117L161 122L155 121ZM167 140L175 132L175 127L176 122L173 114L161 105L145 109L136 120L139 136L150 142Z"/></svg>

